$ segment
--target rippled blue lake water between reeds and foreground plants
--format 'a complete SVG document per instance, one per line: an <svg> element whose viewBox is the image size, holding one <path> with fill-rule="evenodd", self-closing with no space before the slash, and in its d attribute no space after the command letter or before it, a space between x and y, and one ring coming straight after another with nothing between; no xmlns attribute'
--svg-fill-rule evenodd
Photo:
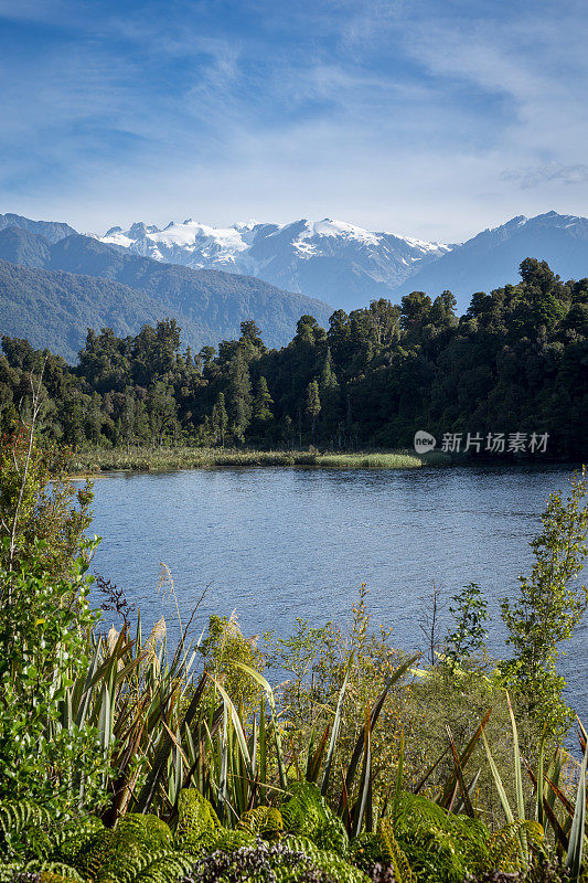
<svg viewBox="0 0 588 883"><path fill-rule="evenodd" d="M493 614L490 646L504 650L498 604L528 573L528 541L573 467L414 470L215 469L115 474L95 485L94 571L122 587L143 620L173 615L156 586L171 570L182 617L209 586L196 621L238 615L245 635L288 634L296 617L349 618L362 583L397 646L418 648L432 583L447 598L469 582ZM568 701L588 717L587 621L562 669Z"/></svg>

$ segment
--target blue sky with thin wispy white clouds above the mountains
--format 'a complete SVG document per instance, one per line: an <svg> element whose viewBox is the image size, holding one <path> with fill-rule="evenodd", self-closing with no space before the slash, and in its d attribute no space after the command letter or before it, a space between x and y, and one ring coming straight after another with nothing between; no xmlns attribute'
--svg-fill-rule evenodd
<svg viewBox="0 0 588 883"><path fill-rule="evenodd" d="M0 212L440 242L586 215L586 45L585 0L0 0Z"/></svg>

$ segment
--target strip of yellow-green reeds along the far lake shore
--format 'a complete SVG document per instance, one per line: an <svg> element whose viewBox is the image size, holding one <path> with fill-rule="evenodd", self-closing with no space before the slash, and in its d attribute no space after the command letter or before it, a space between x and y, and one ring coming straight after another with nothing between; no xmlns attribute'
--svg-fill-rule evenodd
<svg viewBox="0 0 588 883"><path fill-rule="evenodd" d="M223 466L317 466L334 469L414 469L450 462L443 454L420 457L415 451L345 453L311 450L250 450L234 448L125 448L78 451L71 471L92 475L105 471L163 472Z"/></svg>

